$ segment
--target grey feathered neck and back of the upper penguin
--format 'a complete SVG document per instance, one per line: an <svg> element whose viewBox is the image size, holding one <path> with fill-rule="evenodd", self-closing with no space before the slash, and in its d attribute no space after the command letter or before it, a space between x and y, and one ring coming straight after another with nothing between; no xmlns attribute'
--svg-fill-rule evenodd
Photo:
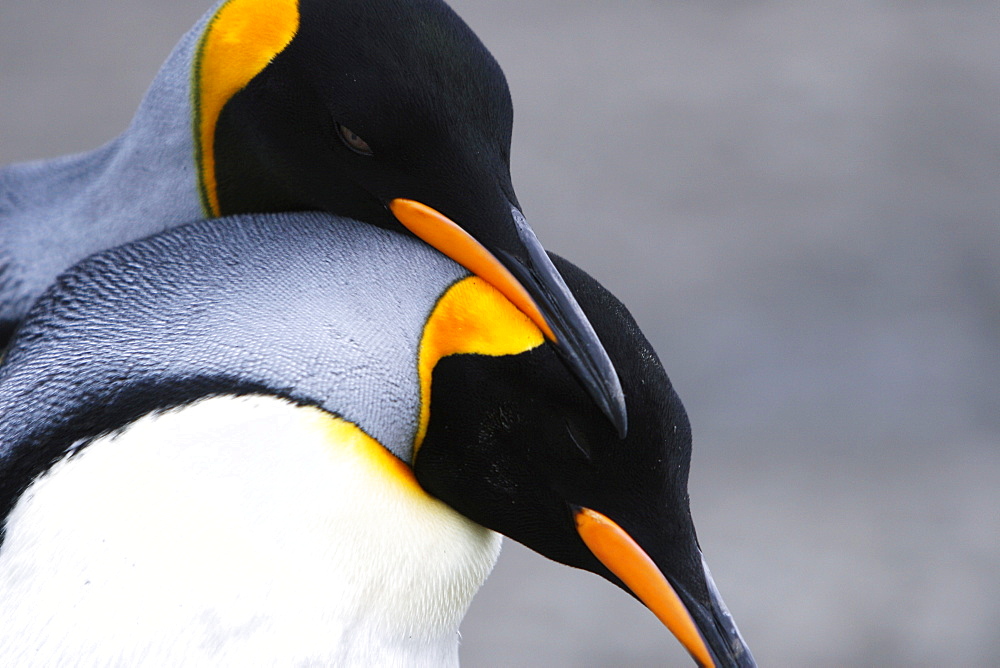
<svg viewBox="0 0 1000 668"><path fill-rule="evenodd" d="M88 153L0 169L0 344L74 263L203 216L192 64L221 4L180 40L118 138Z"/></svg>

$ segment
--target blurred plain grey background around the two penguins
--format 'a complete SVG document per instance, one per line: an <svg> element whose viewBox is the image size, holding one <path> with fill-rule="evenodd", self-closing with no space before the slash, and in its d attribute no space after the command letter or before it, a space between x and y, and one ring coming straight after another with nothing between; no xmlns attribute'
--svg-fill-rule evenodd
<svg viewBox="0 0 1000 668"><path fill-rule="evenodd" d="M0 163L123 130L209 0L2 0ZM529 221L631 308L763 666L1000 657L1000 4L455 0ZM468 666L690 665L508 541Z"/></svg>

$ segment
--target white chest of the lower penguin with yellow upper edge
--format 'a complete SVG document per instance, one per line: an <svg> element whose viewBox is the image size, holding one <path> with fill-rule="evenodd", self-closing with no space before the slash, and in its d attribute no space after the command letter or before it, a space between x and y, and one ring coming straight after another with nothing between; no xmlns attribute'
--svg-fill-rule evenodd
<svg viewBox="0 0 1000 668"><path fill-rule="evenodd" d="M454 664L499 548L354 425L208 399L96 440L22 496L0 664Z"/></svg>

